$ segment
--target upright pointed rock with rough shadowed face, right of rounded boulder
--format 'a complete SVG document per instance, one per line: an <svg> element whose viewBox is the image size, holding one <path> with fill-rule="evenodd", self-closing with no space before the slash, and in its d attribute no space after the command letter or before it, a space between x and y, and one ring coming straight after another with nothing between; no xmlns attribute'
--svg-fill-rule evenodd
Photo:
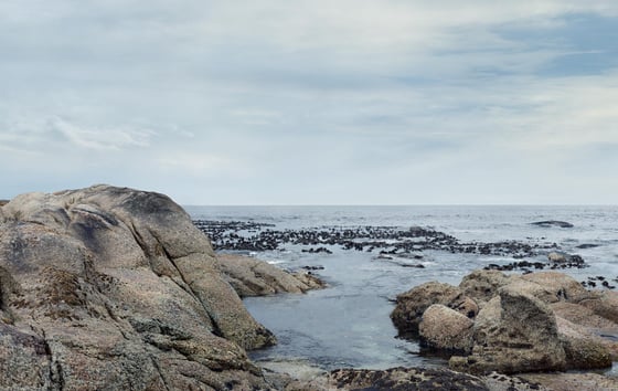
<svg viewBox="0 0 618 391"><path fill-rule="evenodd" d="M551 308L515 286L499 289L473 326L468 357L452 357L449 367L471 373L518 373L563 370L566 356Z"/></svg>

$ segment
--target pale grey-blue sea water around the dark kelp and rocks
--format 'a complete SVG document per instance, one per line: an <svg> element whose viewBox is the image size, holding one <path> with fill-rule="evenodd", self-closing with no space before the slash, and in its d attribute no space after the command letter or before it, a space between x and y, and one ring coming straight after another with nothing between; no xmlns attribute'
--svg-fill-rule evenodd
<svg viewBox="0 0 618 391"><path fill-rule="evenodd" d="M271 230L324 228L423 226L462 242L519 241L556 243L560 251L580 255L586 268L565 270L578 281L618 278L618 207L185 207L194 220L273 224ZM573 228L536 226L555 220ZM252 233L246 233L252 234ZM594 247L580 249L582 244ZM263 361L302 361L323 369L384 369L394 366L440 366L444 360L418 344L396 338L388 314L399 293L428 281L459 284L461 277L488 264L509 264L509 256L425 251L424 268L403 267L377 254L326 245L332 254L307 253L284 245L252 256L287 270L316 271L329 287L305 295L246 298L252 315L277 336L279 344L252 352ZM528 261L546 261L541 252ZM521 272L520 272L521 273ZM618 283L612 282L618 286Z"/></svg>

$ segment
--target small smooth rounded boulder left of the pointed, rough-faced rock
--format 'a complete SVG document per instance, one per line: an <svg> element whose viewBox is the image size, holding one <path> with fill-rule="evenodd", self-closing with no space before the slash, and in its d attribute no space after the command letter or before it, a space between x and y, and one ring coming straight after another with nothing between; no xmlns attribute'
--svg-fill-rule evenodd
<svg viewBox="0 0 618 391"><path fill-rule="evenodd" d="M473 324L455 309L434 304L423 314L419 325L420 345L447 352L470 353Z"/></svg>

